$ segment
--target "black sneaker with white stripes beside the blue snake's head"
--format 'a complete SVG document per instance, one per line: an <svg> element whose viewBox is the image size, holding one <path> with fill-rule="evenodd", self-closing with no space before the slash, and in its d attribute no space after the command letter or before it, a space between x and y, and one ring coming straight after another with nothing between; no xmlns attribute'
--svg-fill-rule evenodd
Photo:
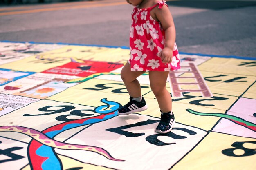
<svg viewBox="0 0 256 170"><path fill-rule="evenodd" d="M146 105L146 101L144 100L144 97L142 97L141 102L137 102L132 99L133 98L130 97L130 102L128 102L128 104L122 106L118 110L119 115L128 115L130 113L141 112L148 108L148 106Z"/></svg>

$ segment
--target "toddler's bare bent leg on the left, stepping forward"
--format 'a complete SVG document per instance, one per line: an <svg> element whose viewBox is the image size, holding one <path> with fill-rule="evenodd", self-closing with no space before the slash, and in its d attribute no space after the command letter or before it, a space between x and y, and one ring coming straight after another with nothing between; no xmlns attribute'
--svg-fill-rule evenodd
<svg viewBox="0 0 256 170"><path fill-rule="evenodd" d="M137 77L144 73L145 71L131 71L131 66L129 63L126 63L126 65L123 67L121 71L121 78L130 97L141 97L141 88Z"/></svg>

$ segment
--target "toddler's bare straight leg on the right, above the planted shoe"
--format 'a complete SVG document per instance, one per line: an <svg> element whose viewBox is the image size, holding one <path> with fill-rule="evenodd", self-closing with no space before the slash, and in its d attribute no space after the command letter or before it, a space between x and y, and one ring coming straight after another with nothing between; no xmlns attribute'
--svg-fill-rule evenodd
<svg viewBox="0 0 256 170"><path fill-rule="evenodd" d="M166 89L168 73L168 71L149 72L151 90L157 98L160 110L164 113L172 111L171 95Z"/></svg>

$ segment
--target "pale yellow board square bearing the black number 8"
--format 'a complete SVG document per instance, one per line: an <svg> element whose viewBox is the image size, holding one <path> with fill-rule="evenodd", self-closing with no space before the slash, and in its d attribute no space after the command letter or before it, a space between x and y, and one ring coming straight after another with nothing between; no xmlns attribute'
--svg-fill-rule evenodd
<svg viewBox="0 0 256 170"><path fill-rule="evenodd" d="M242 144L246 141L256 142L256 139L210 132L188 155L174 165L172 170L254 170L256 169L256 144L243 144L244 148L254 150L254 154L250 156L236 157L222 153L226 149L235 149L231 146L235 142ZM242 155L244 151L236 149L234 153Z"/></svg>

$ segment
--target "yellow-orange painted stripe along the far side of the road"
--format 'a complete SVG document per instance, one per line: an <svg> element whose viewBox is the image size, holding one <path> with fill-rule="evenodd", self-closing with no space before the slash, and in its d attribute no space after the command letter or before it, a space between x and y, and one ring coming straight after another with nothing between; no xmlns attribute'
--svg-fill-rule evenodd
<svg viewBox="0 0 256 170"><path fill-rule="evenodd" d="M112 1L103 1L103 2L113 2ZM121 5L121 4L127 4L126 1L122 1L122 2L114 2L114 3L93 3L92 2L89 4L90 2L87 3L75 3L70 6L69 3L65 3L65 4L51 4L51 5L44 5L45 7L50 7L50 8L40 8L40 9L31 9L31 8L35 8L34 7L18 7L18 8L9 8L8 10L17 10L17 9L31 9L31 10L24 10L24 11L9 11L9 12L2 12L0 13L0 16L4 16L4 15L18 15L18 14L25 14L25 13L38 13L38 12L45 12L45 11L58 11L58 10L66 10L66 9L80 9L80 8L89 8L89 7L104 7L104 6L115 6L115 5ZM82 5L81 5L82 4ZM67 6L69 5L69 6ZM54 7L57 6L57 7ZM42 7L42 6L38 6L38 7ZM3 9L1 9L3 10ZM6 9L5 9L6 10Z"/></svg>

